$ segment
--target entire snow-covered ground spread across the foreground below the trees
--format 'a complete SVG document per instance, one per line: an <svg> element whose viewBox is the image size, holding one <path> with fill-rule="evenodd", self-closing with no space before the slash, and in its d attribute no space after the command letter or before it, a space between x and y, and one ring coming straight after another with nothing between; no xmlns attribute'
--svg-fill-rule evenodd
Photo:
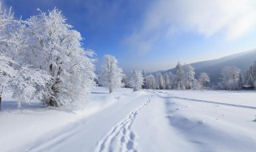
<svg viewBox="0 0 256 152"><path fill-rule="evenodd" d="M96 87L83 110L0 112L0 151L255 151L256 92L108 90Z"/></svg>

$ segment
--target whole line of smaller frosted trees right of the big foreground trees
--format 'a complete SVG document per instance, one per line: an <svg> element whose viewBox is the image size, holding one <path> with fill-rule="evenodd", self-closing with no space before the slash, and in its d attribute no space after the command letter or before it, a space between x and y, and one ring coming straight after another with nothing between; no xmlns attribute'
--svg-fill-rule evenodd
<svg viewBox="0 0 256 152"><path fill-rule="evenodd" d="M110 62L112 60L112 62ZM256 62L250 66L246 78L236 66L225 66L222 69L221 82L214 86L210 84L210 76L206 73L195 78L194 67L181 65L179 62L172 72L157 72L146 74L144 71L132 70L130 74L122 74L122 69L117 66L117 59L106 55L99 75L99 85L109 88L110 93L114 88L130 87L134 91L139 89L154 90L240 90L243 85L254 86L256 83Z"/></svg>

